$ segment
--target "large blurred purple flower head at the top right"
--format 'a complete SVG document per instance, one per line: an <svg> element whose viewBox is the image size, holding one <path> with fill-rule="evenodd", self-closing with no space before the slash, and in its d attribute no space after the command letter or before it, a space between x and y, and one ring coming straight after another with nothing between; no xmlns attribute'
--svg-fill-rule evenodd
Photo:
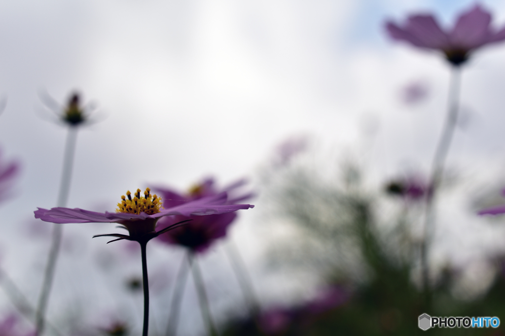
<svg viewBox="0 0 505 336"><path fill-rule="evenodd" d="M495 31L490 22L490 13L476 5L463 13L450 31L442 30L432 15L409 16L403 26L388 21L386 29L393 39L440 50L452 65L459 66L468 60L473 50L505 39L505 28Z"/></svg>

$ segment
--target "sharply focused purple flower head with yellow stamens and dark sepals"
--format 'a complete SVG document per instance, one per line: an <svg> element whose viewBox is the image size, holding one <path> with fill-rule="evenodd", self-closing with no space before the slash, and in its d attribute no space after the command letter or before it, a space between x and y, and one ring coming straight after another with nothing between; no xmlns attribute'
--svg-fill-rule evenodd
<svg viewBox="0 0 505 336"><path fill-rule="evenodd" d="M167 209L161 207L160 198L157 195L151 195L149 188L145 190L143 198L140 195L140 189L137 189L133 198L129 191L126 195L121 196L122 201L118 203L116 212L106 211L105 213L100 213L79 208L70 209L63 207L56 207L51 210L38 208L38 210L34 211L35 218L59 224L116 222L127 229L130 235L110 234L94 237L118 237L118 239L111 242L123 239L145 242L181 224L181 222L172 223L172 226L166 226L163 230L156 232L156 223L164 216L222 214L254 207L254 205L249 204L229 204L226 192L194 200L181 200L177 205L168 203L171 206Z"/></svg>

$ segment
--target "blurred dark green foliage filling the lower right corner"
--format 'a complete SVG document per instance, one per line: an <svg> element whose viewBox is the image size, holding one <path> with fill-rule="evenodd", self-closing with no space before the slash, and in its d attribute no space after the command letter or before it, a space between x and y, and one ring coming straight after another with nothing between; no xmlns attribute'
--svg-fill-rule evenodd
<svg viewBox="0 0 505 336"><path fill-rule="evenodd" d="M324 184L321 184L324 185ZM436 284L427 290L422 290L413 282L413 269L419 262L416 258L407 257L398 262L397 256L389 251L394 247L388 237L384 237L378 229L374 218L374 201L357 189L334 190L333 193L327 185L318 190L309 188L307 180L291 180L286 188L289 195L296 197L281 198L280 202L289 201L285 213L295 213L293 223L303 232L314 237L319 237L321 244L328 243L329 229L326 225L318 225L321 213L321 203L316 204L311 210L308 199L318 202L324 195L326 204L334 204L340 211L334 217L334 226L331 230L338 232L333 244L339 244L341 239L347 239L358 246L362 265L367 269L367 278L364 281L355 281L354 291L349 300L318 314L302 314L302 307L286 307L291 311L292 318L286 325L270 333L262 328L262 315L248 317L242 320L231 321L226 325L226 336L240 335L274 335L274 336L334 336L334 335L505 335L502 327L499 328L439 328L437 326L423 331L418 327L418 317L427 313L430 316L497 316L505 321L505 277L500 275L487 294L474 301L461 301L451 295L451 286L457 279L457 273L447 269L442 272ZM311 195L311 196L308 196ZM287 196L287 195L286 195ZM298 207L293 200L298 199L303 205ZM286 203L284 203L286 206ZM319 207L317 207L319 206ZM293 207L296 210L293 210ZM335 209L332 208L332 211ZM291 211L293 210L293 211ZM324 217L324 216L322 216ZM343 219L344 218L344 219ZM398 221L404 220L400 219ZM342 223L345 220L345 225ZM340 222L339 222L340 221ZM409 224L409 223L407 223ZM343 228L346 227L346 230ZM307 230L309 229L309 230ZM401 230L396 226L395 230ZM350 234L349 234L350 233ZM397 232L390 232L391 235ZM331 240L330 240L331 241ZM338 242L338 243L337 243ZM297 244L294 242L293 244ZM330 242L331 244L331 242ZM415 250L416 246L411 246ZM415 253L412 253L415 255ZM333 282L345 281L345 274L337 272L338 276ZM349 279L347 279L349 281Z"/></svg>

